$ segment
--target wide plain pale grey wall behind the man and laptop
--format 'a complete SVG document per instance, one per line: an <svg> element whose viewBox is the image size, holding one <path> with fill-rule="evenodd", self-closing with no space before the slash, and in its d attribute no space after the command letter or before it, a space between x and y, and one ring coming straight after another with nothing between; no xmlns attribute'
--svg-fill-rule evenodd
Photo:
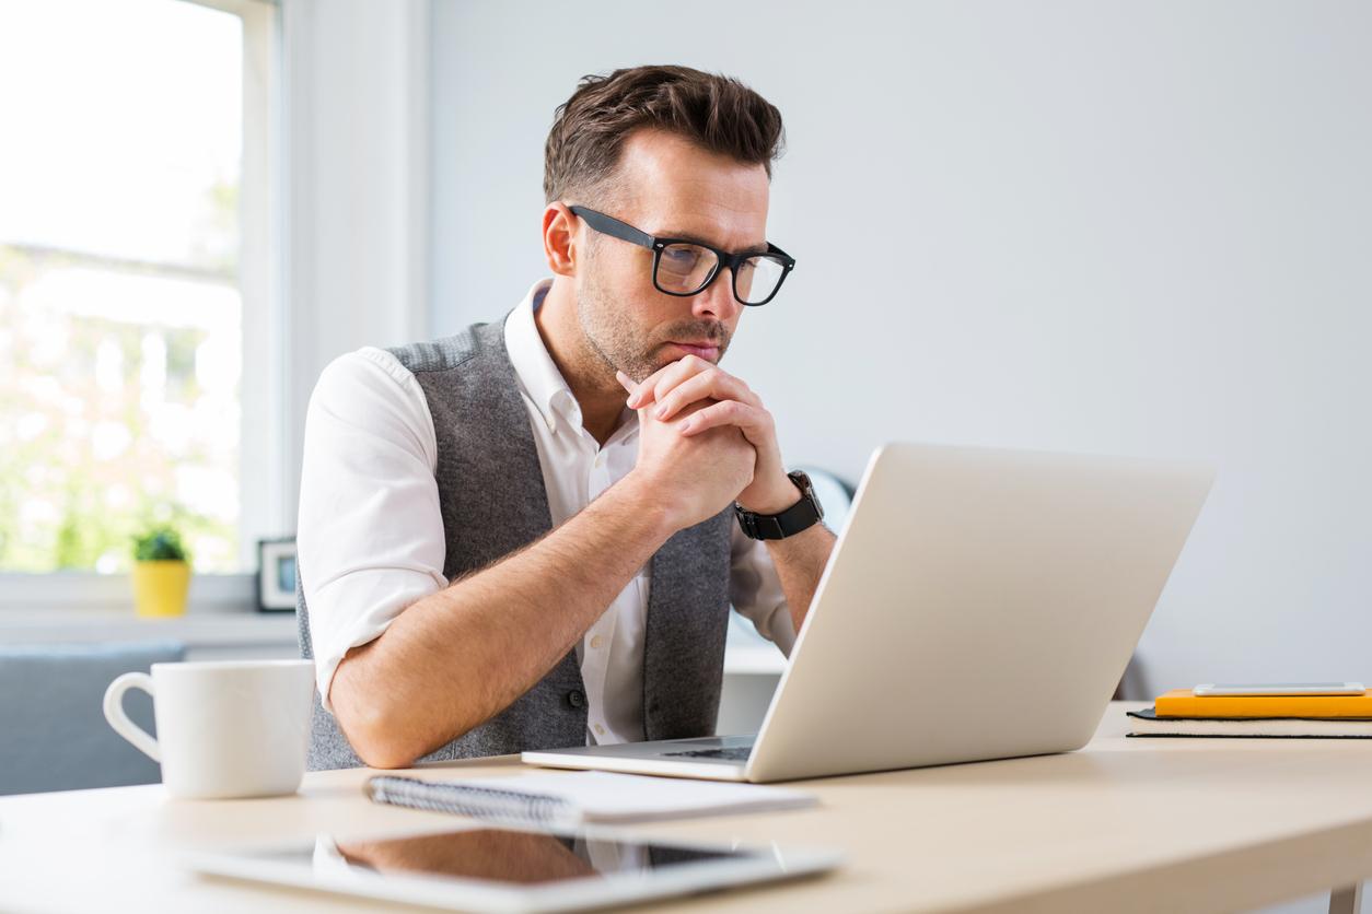
<svg viewBox="0 0 1372 914"><path fill-rule="evenodd" d="M542 144L584 73L777 103L799 259L726 367L792 462L888 439L1195 456L1220 481L1146 688L1372 680L1372 7L434 5L432 330L543 275Z"/></svg>

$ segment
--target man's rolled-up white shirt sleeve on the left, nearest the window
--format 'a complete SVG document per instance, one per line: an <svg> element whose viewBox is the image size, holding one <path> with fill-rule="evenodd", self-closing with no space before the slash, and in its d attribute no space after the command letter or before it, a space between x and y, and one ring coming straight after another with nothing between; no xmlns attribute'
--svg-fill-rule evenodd
<svg viewBox="0 0 1372 914"><path fill-rule="evenodd" d="M428 402L391 354L364 348L320 375L305 422L300 586L325 710L348 650L447 585Z"/></svg>

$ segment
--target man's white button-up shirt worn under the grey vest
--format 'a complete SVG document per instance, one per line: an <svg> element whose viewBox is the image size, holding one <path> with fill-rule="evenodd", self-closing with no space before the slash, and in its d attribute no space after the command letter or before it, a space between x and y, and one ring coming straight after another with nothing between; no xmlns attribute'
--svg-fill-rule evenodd
<svg viewBox="0 0 1372 914"><path fill-rule="evenodd" d="M543 280L510 314L505 345L528 407L547 507L558 526L623 478L638 458L638 417L601 447L553 363L534 311ZM343 655L379 637L405 607L447 586L439 512L438 443L418 381L390 352L362 348L320 375L305 425L298 526L324 707ZM643 566L576 647L587 699L587 741L643 739ZM757 630L790 652L794 628L766 545L734 526L730 599Z"/></svg>

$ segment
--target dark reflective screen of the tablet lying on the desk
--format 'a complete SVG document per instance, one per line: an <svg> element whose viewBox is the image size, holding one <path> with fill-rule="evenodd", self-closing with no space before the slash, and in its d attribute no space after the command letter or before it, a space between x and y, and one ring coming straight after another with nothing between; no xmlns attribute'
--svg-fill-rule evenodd
<svg viewBox="0 0 1372 914"><path fill-rule="evenodd" d="M504 885L545 885L611 873L642 873L722 859L756 859L712 851L546 832L482 828L377 840L320 839L313 848L255 855L281 863L379 876L432 876Z"/></svg>

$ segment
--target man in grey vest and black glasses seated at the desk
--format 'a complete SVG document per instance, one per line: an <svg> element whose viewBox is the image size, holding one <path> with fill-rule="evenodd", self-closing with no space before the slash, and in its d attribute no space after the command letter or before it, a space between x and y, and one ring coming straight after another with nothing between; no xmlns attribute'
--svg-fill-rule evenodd
<svg viewBox="0 0 1372 914"><path fill-rule="evenodd" d="M729 604L789 651L834 537L718 367L793 266L766 240L781 136L724 77L587 77L547 138L553 278L501 323L324 371L311 767L704 736Z"/></svg>

